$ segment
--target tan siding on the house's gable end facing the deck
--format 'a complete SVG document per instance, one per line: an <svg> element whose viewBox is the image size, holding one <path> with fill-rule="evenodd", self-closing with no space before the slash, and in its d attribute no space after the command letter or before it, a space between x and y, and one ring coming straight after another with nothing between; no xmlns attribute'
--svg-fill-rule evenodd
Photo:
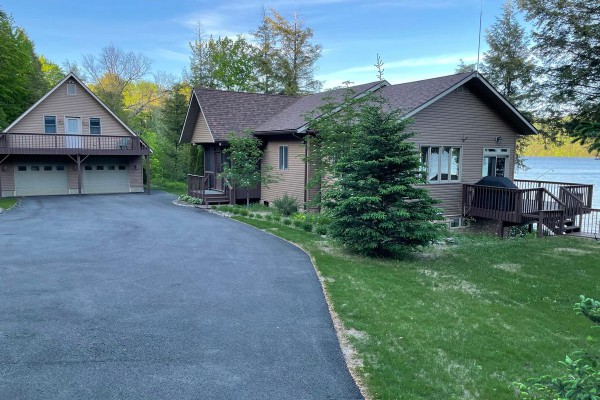
<svg viewBox="0 0 600 400"><path fill-rule="evenodd" d="M510 158L507 178L513 179L515 143L517 134L513 127L473 93L452 92L414 116L411 130L419 146L456 146L462 148L461 181L459 183L429 184L431 196L441 200L438 206L444 214L462 214L462 184L472 184L481 179L483 149L508 148ZM496 143L496 137L502 137Z"/></svg>

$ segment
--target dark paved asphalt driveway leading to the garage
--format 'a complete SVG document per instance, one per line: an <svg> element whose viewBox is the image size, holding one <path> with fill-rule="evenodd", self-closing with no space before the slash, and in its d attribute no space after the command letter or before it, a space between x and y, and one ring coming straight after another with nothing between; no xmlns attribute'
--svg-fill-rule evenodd
<svg viewBox="0 0 600 400"><path fill-rule="evenodd" d="M308 257L173 196L0 215L0 399L357 399Z"/></svg>

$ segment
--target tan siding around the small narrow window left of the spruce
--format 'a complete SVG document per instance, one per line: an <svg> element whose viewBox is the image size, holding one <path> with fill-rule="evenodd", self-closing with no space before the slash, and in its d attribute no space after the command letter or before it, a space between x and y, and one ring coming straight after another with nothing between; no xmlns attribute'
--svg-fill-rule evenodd
<svg viewBox="0 0 600 400"><path fill-rule="evenodd" d="M288 146L288 169L279 170L279 146ZM294 197L300 204L304 203L304 143L301 140L273 140L267 143L263 153L262 165L272 165L273 175L279 176L279 181L261 187L261 201L274 200L286 193Z"/></svg>

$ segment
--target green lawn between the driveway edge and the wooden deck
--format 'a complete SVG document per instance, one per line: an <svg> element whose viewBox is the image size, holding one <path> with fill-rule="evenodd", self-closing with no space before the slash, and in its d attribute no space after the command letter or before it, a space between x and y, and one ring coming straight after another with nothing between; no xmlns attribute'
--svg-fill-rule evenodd
<svg viewBox="0 0 600 400"><path fill-rule="evenodd" d="M560 370L600 330L572 310L600 297L600 243L456 234L406 261L345 254L320 236L237 219L302 246L363 360L373 399L513 399L513 381Z"/></svg>

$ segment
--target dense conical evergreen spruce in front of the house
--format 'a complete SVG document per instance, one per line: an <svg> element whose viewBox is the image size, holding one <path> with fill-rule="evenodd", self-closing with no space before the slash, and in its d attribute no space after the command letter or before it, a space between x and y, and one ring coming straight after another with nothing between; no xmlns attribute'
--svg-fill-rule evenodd
<svg viewBox="0 0 600 400"><path fill-rule="evenodd" d="M324 193L329 233L368 256L399 256L439 237L441 214L429 196L410 124L382 99L361 105L349 146L333 165Z"/></svg>

